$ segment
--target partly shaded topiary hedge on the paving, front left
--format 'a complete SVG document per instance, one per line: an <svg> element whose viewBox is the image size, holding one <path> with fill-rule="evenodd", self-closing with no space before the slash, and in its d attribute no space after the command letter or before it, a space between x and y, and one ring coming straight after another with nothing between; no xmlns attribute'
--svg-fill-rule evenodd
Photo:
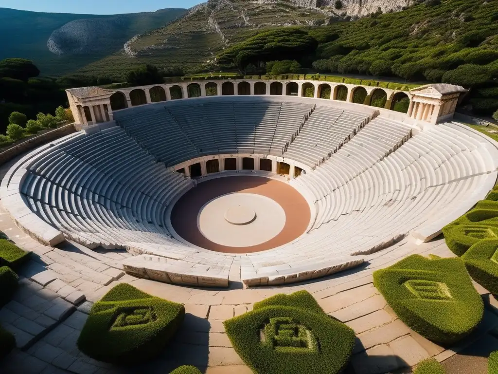
<svg viewBox="0 0 498 374"><path fill-rule="evenodd" d="M180 327L185 307L122 283L95 303L78 348L100 361L146 361L164 349Z"/></svg>

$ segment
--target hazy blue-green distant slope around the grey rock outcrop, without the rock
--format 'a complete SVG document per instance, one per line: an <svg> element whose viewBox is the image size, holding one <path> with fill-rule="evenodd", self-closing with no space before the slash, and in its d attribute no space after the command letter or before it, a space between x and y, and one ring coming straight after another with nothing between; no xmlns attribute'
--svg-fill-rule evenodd
<svg viewBox="0 0 498 374"><path fill-rule="evenodd" d="M184 9L162 9L157 12L132 13L126 15L92 15L68 13L42 13L0 8L0 60L7 57L22 57L33 60L43 75L61 75L85 66L103 56L116 52L131 36L157 28L180 16ZM65 23L88 18L125 17L126 28L120 40L110 40L107 51L100 55L56 56L47 48L52 31Z"/></svg>

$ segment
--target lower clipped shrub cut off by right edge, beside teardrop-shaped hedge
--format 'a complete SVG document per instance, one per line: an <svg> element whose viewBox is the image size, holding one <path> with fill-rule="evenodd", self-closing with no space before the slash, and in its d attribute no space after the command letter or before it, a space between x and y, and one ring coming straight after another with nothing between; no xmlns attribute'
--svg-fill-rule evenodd
<svg viewBox="0 0 498 374"><path fill-rule="evenodd" d="M480 240L462 256L472 279L498 295L498 240Z"/></svg>

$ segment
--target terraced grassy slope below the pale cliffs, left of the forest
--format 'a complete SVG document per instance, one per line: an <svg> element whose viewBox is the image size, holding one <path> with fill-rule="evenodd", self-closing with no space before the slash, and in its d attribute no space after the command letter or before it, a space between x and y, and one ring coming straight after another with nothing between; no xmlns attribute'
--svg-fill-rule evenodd
<svg viewBox="0 0 498 374"><path fill-rule="evenodd" d="M248 25L244 25L243 13L249 17ZM218 21L226 38L225 43L221 36L209 27L210 15ZM286 0L273 4L227 1L220 8L204 7L166 27L143 35L132 45L139 51L135 58L116 53L85 66L80 72L124 74L144 63L191 68L213 60L214 56L228 45L277 27L272 24L306 24L309 21L323 22L325 18L326 15L319 10L297 8Z"/></svg>

